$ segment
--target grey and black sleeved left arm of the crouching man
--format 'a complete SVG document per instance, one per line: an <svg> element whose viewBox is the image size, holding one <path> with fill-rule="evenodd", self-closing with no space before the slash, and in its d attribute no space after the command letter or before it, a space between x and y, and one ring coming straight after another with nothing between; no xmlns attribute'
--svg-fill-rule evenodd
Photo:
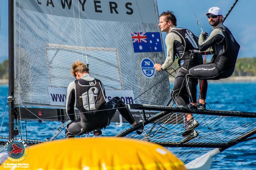
<svg viewBox="0 0 256 170"><path fill-rule="evenodd" d="M75 101L76 101L76 96L75 96L75 81L69 83L68 85L68 92L67 92L67 99L66 99L66 112L71 121L75 120Z"/></svg>

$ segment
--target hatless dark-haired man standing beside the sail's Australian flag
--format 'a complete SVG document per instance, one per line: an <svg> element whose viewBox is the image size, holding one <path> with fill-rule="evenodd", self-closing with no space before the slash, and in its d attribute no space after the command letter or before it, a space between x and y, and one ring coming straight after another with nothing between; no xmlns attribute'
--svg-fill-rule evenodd
<svg viewBox="0 0 256 170"><path fill-rule="evenodd" d="M178 63L180 66L180 70L178 71L173 87L172 87L172 99L176 103L178 107L188 107L189 105L189 96L186 89L186 79L185 72L186 70L203 64L202 55L196 54L192 56L191 50L198 50L197 37L185 28L176 28L176 17L173 15L172 11L163 12L160 15L159 19L159 27L162 32L166 32L167 36L165 38L167 56L164 64L156 63L154 68L157 71L166 70L168 67L172 65L175 60L175 57L178 58ZM196 85L198 83L198 79L193 79L194 89L196 91ZM199 81L199 85L201 86L202 81ZM203 82L203 88L201 92L200 99L205 101L207 90L207 81ZM205 107L204 107L205 108ZM197 107L193 107L195 111ZM192 117L191 114L186 115L187 127L186 130L182 133L184 139L180 141L180 143L187 142L188 140L195 138L198 136L198 132L195 128L199 125L199 123Z"/></svg>

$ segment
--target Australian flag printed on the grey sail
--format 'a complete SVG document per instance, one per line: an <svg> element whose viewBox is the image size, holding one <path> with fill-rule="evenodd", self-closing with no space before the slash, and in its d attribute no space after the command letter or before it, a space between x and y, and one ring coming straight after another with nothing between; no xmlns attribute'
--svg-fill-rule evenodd
<svg viewBox="0 0 256 170"><path fill-rule="evenodd" d="M132 44L135 53L163 52L159 32L132 33Z"/></svg>

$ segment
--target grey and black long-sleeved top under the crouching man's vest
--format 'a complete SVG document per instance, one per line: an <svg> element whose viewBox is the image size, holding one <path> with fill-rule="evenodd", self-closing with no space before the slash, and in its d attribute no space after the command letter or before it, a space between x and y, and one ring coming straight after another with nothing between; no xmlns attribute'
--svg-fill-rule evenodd
<svg viewBox="0 0 256 170"><path fill-rule="evenodd" d="M84 74L81 79L85 81L93 81L95 78L91 77L88 73ZM100 82L102 91L105 95L104 85ZM67 100L66 100L66 112L70 120L75 120L75 109L74 106L76 105L76 83L72 81L68 85L68 93L67 93Z"/></svg>

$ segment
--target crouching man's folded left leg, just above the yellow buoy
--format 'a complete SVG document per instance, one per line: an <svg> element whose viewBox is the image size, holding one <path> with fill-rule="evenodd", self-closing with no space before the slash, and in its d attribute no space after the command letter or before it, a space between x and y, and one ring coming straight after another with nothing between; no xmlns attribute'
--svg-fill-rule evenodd
<svg viewBox="0 0 256 170"><path fill-rule="evenodd" d="M68 128L65 130L66 138L75 137L77 135L83 135L84 131L80 124L80 119L77 119L75 122L71 123Z"/></svg>

